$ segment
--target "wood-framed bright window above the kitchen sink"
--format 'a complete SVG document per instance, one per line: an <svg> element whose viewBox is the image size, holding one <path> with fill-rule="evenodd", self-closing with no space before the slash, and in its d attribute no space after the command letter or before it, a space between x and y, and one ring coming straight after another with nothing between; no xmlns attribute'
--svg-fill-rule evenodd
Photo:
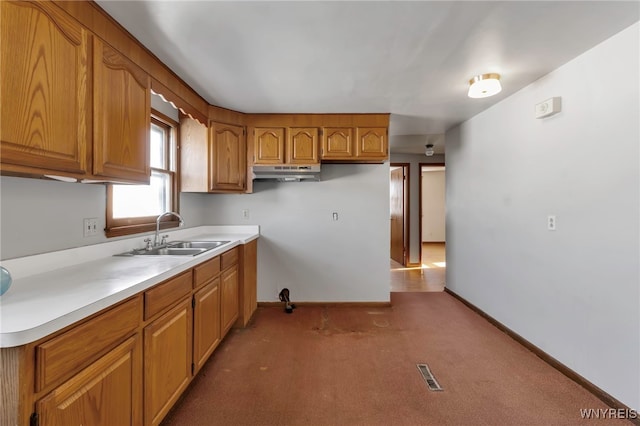
<svg viewBox="0 0 640 426"><path fill-rule="evenodd" d="M155 230L156 218L178 211L176 141L178 123L153 111L149 143L149 185L109 184L107 187L107 237ZM175 217L163 228L178 226Z"/></svg>

